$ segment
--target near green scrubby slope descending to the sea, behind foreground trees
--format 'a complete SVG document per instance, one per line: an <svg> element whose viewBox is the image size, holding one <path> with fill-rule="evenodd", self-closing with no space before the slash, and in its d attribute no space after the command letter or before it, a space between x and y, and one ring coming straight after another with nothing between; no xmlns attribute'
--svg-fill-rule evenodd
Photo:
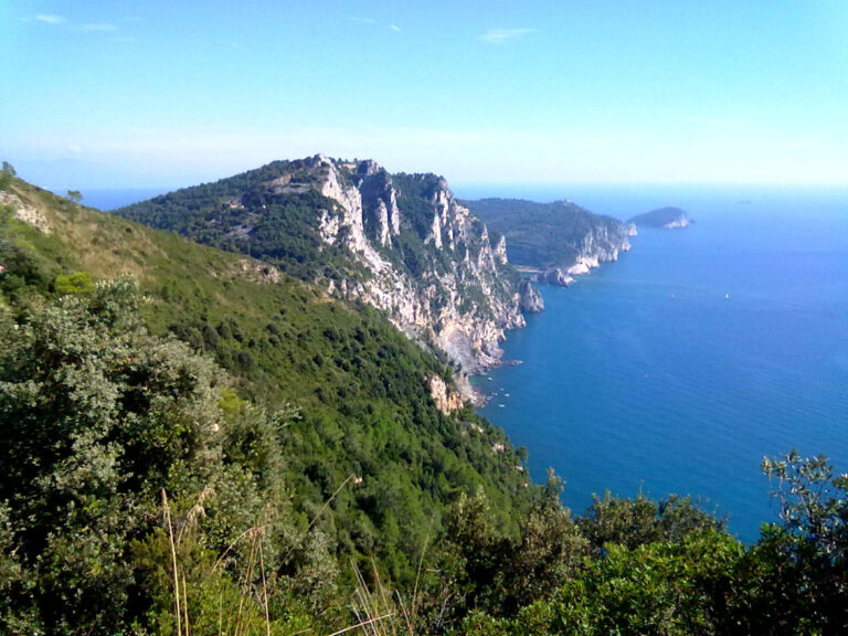
<svg viewBox="0 0 848 636"><path fill-rule="evenodd" d="M338 558L375 553L414 576L446 504L485 489L515 527L527 478L502 432L458 410L451 369L381 315L275 267L85 209L15 180L0 192L0 314L26 324L45 298L135 277L156 336L214 357L233 389L297 416L278 431L295 509ZM492 451L496 449L497 452ZM347 562L347 561L344 561Z"/></svg>

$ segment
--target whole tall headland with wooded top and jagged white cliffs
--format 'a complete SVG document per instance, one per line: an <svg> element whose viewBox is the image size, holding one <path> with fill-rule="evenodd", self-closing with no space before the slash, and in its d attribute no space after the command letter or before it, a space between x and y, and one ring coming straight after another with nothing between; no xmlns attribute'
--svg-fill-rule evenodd
<svg viewBox="0 0 848 636"><path fill-rule="evenodd" d="M275 161L117 214L265 259L379 309L469 372L497 363L530 290L434 174L321 155Z"/></svg>

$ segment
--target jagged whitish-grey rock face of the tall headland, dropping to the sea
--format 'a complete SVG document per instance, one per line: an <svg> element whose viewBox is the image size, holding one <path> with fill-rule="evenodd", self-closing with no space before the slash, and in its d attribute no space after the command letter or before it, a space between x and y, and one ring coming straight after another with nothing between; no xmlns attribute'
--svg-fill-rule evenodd
<svg viewBox="0 0 848 636"><path fill-rule="evenodd" d="M466 372L497 364L505 329L524 326L527 296L507 271L505 240L492 247L486 225L444 179L391 176L373 161L317 156L310 162L322 168L320 192L337 204L321 214L321 239L348 247L370 274L332 284L330 292L383 311Z"/></svg>

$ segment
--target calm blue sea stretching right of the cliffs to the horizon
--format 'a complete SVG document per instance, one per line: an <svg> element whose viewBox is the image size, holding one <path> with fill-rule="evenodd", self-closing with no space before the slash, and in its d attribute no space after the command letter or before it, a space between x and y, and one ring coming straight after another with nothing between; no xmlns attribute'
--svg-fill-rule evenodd
<svg viewBox="0 0 848 636"><path fill-rule="evenodd" d="M543 287L545 311L505 344L523 363L476 379L483 414L527 446L537 481L549 466L565 479L575 512L606 489L692 495L754 541L776 518L763 456L848 468L848 191L564 194L697 223L643 230L618 262Z"/></svg>

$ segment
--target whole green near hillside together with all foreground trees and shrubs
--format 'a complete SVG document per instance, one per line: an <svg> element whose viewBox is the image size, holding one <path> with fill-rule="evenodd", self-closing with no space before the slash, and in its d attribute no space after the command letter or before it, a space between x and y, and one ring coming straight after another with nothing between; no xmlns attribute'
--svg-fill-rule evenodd
<svg viewBox="0 0 848 636"><path fill-rule="evenodd" d="M371 310L2 187L0 633L848 629L824 458L763 463L782 523L753 545L676 496L572 516Z"/></svg>

